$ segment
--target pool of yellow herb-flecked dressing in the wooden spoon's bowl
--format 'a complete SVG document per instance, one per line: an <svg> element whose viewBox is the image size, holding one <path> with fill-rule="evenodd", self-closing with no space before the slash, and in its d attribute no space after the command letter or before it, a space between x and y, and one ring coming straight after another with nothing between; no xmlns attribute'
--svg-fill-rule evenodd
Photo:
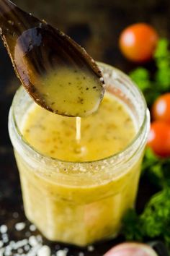
<svg viewBox="0 0 170 256"><path fill-rule="evenodd" d="M99 77L66 67L43 77L36 88L48 108L63 116L89 116L97 111L104 95Z"/></svg>

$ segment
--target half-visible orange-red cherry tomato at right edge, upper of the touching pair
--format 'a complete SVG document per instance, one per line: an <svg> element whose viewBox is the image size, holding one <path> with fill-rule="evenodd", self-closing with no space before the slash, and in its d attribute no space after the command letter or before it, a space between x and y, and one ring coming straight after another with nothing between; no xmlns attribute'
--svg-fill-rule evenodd
<svg viewBox="0 0 170 256"><path fill-rule="evenodd" d="M156 99L152 107L152 117L154 120L166 121L170 124L170 93Z"/></svg>

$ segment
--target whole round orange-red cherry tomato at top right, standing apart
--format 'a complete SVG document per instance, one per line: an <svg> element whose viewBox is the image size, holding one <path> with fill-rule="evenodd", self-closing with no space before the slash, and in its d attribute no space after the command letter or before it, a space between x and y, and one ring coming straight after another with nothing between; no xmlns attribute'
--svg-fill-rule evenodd
<svg viewBox="0 0 170 256"><path fill-rule="evenodd" d="M158 43L156 30L146 23L137 23L125 28L120 35L122 54L135 62L152 58Z"/></svg>

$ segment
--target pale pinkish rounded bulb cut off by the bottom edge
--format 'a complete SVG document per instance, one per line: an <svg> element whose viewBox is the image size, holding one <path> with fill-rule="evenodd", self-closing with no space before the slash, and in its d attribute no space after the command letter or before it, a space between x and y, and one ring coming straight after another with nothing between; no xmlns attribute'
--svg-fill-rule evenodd
<svg viewBox="0 0 170 256"><path fill-rule="evenodd" d="M158 256L147 244L128 242L118 244L104 256Z"/></svg>

